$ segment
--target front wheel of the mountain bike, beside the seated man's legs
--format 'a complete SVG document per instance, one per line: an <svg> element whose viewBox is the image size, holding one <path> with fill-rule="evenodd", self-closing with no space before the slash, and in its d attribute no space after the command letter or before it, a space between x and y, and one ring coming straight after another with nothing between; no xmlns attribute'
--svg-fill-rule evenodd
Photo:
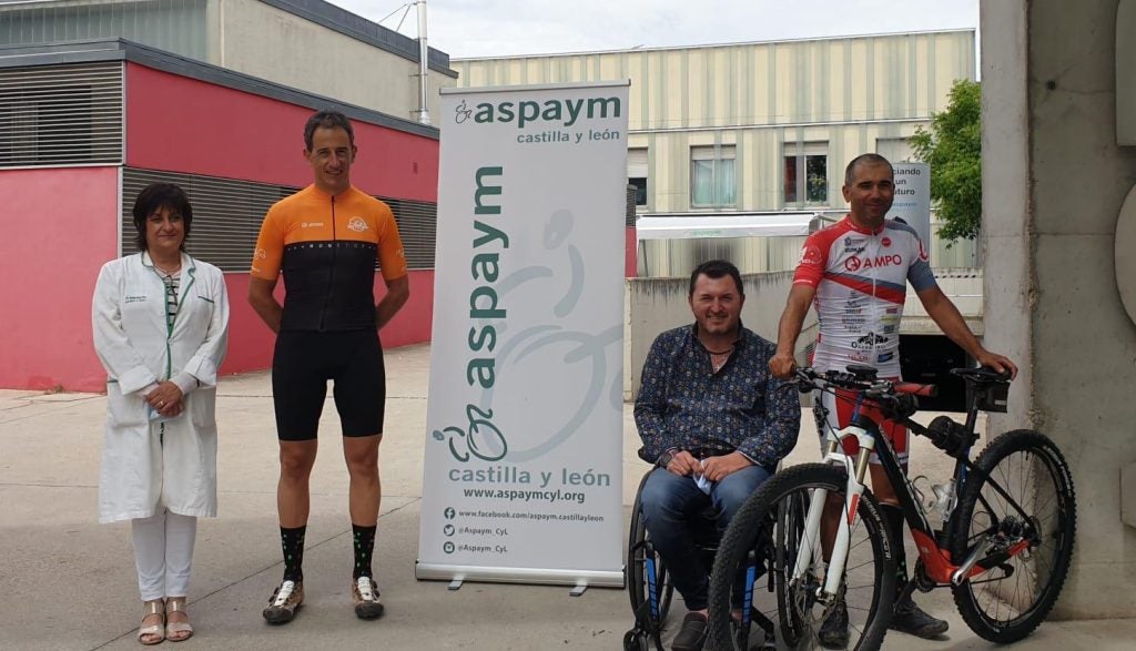
<svg viewBox="0 0 1136 651"><path fill-rule="evenodd" d="M817 599L826 567L824 552L821 545L803 535L804 518L818 490L843 498L847 490L844 469L804 464L777 473L734 516L710 576L711 649L736 648L730 593L737 569L751 551L766 559L776 592L776 598L759 603L755 591L754 607L777 623L782 641L790 648L820 646L817 634L838 600L824 603ZM841 589L849 614L847 649L879 649L895 594L893 543L870 492L861 495L857 515ZM808 571L794 579L794 566L802 552Z"/></svg>

